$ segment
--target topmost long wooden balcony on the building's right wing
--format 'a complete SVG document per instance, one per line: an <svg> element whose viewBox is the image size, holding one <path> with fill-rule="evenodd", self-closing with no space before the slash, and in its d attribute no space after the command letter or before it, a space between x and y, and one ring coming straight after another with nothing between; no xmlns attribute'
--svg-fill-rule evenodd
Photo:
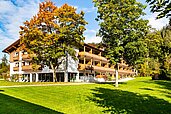
<svg viewBox="0 0 171 114"><path fill-rule="evenodd" d="M92 58L95 61L98 60L98 61L102 61L104 63L109 62L105 57L102 57L100 55L91 54L89 52L79 52L79 55L81 56L81 58L85 56L86 58L88 58L88 59Z"/></svg>

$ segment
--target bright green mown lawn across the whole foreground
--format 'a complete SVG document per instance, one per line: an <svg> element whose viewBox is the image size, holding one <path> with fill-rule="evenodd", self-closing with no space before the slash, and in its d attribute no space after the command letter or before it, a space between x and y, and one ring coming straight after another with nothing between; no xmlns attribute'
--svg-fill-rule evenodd
<svg viewBox="0 0 171 114"><path fill-rule="evenodd" d="M0 114L170 114L171 81L0 88Z"/></svg>

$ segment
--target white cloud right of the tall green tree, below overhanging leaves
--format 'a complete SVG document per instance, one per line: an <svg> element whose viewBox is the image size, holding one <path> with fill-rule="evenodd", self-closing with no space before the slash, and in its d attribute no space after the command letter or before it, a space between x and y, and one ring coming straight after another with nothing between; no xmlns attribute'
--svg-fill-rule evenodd
<svg viewBox="0 0 171 114"><path fill-rule="evenodd" d="M149 25L151 25L153 28L156 28L157 30L160 30L165 26L166 24L169 23L168 18L161 18L161 19L156 19L157 13L153 13L151 16L149 16Z"/></svg>

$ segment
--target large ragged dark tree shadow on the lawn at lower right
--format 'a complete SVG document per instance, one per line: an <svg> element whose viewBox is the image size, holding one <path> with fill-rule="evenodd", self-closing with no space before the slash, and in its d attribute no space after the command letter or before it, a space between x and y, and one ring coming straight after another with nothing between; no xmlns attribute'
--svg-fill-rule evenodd
<svg viewBox="0 0 171 114"><path fill-rule="evenodd" d="M107 88L92 89L90 101L103 107L104 113L110 114L170 114L171 104L163 99L133 92Z"/></svg>

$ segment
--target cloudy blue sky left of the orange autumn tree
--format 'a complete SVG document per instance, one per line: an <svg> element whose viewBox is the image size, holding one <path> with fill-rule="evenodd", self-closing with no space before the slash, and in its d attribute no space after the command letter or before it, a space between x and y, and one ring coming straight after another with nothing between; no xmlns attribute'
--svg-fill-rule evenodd
<svg viewBox="0 0 171 114"><path fill-rule="evenodd" d="M0 1L0 58L1 51L19 39L19 26L38 12L40 0Z"/></svg>

